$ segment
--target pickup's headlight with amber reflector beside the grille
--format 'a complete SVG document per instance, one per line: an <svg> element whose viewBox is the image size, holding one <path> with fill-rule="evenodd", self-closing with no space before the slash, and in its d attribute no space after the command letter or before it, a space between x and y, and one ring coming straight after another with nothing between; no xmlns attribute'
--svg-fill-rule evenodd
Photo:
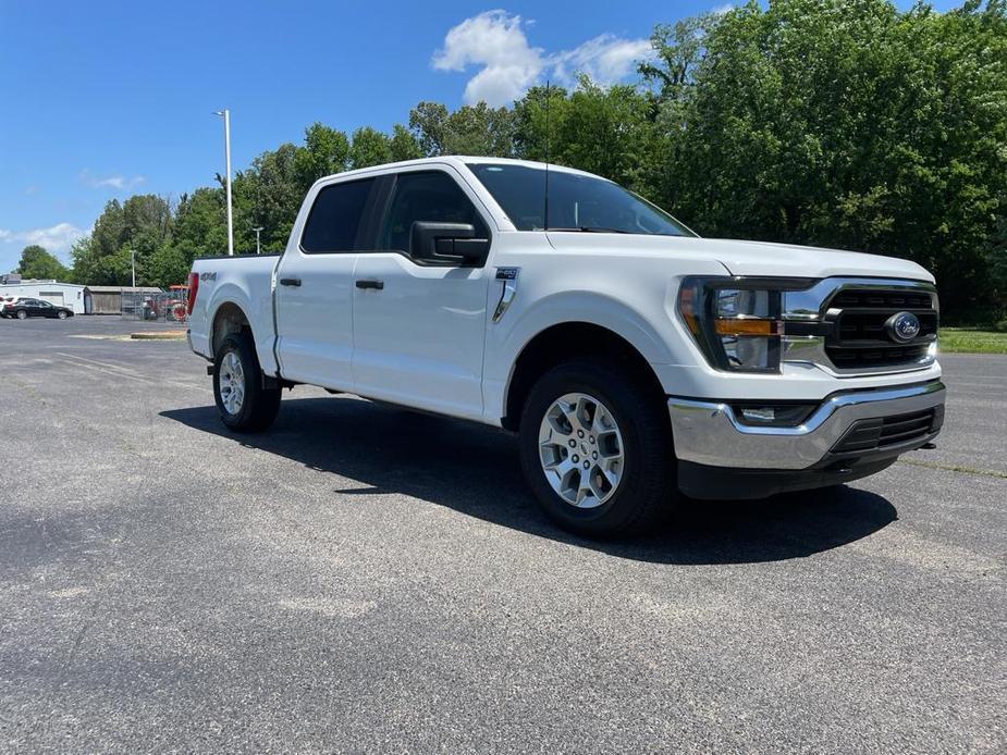
<svg viewBox="0 0 1007 755"><path fill-rule="evenodd" d="M783 292L807 283L744 277L687 277L678 311L711 364L737 372L778 372Z"/></svg>

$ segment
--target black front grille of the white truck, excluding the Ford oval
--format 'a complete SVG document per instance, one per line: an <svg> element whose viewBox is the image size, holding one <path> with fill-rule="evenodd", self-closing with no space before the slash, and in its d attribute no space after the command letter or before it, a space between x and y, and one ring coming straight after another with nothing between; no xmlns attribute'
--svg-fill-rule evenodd
<svg viewBox="0 0 1007 755"><path fill-rule="evenodd" d="M912 312L920 320L920 333L909 343L893 339L885 327L898 312ZM937 337L937 310L929 292L844 288L828 302L825 321L825 354L840 370L921 362Z"/></svg>

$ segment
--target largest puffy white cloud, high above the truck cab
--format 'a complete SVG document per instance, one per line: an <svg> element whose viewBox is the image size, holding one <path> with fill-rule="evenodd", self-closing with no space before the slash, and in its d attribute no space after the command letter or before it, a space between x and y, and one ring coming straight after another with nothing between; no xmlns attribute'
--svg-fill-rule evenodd
<svg viewBox="0 0 1007 755"><path fill-rule="evenodd" d="M573 50L548 54L531 47L525 28L529 22L506 11L486 11L452 27L431 61L439 71L479 71L465 86L465 102L484 100L499 107L519 98L544 77L563 86L576 84L578 73L609 85L633 73L636 63L651 54L647 39L623 39L603 34Z"/></svg>

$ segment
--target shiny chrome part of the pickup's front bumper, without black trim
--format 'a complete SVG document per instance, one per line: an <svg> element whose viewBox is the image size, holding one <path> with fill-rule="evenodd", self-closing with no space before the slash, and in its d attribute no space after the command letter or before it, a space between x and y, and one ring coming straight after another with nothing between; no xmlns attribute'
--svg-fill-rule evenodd
<svg viewBox="0 0 1007 755"><path fill-rule="evenodd" d="M801 470L822 461L857 420L924 411L943 406L944 396L941 381L835 394L795 428L745 424L723 401L673 396L667 407L679 461L709 467Z"/></svg>

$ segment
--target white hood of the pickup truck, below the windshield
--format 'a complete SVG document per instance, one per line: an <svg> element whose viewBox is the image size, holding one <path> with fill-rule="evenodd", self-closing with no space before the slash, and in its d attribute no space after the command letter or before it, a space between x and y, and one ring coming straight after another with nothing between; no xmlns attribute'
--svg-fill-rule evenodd
<svg viewBox="0 0 1007 755"><path fill-rule="evenodd" d="M558 250L603 251L607 249L613 255L701 257L716 260L732 275L814 279L845 275L934 282L933 275L916 262L842 249L741 242L730 238L679 238L552 231L549 232L549 240Z"/></svg>

